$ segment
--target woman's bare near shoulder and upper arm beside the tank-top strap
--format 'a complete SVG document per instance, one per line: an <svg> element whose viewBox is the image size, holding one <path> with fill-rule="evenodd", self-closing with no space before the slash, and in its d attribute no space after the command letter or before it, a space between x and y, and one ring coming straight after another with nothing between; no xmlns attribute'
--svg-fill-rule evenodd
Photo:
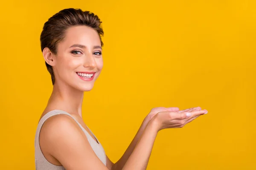
<svg viewBox="0 0 256 170"><path fill-rule="evenodd" d="M44 146L66 170L108 170L70 116L52 116L43 127L40 136L44 138Z"/></svg>

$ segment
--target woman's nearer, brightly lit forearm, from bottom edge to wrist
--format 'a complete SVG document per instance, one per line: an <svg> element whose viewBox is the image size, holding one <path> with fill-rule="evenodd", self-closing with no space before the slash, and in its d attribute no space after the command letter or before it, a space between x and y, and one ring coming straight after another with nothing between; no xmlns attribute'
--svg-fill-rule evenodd
<svg viewBox="0 0 256 170"><path fill-rule="evenodd" d="M122 170L146 169L157 132L156 125L149 122Z"/></svg>

